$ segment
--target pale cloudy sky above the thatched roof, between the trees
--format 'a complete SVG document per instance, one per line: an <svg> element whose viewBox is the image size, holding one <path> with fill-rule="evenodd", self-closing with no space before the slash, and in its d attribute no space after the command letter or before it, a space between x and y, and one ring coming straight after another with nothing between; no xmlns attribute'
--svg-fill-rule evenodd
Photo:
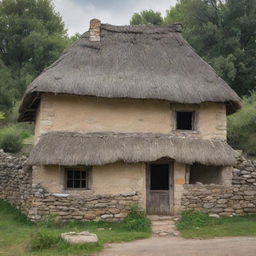
<svg viewBox="0 0 256 256"><path fill-rule="evenodd" d="M165 16L176 0L53 0L63 17L69 35L88 30L89 21L98 18L102 23L128 25L135 12L152 9Z"/></svg>

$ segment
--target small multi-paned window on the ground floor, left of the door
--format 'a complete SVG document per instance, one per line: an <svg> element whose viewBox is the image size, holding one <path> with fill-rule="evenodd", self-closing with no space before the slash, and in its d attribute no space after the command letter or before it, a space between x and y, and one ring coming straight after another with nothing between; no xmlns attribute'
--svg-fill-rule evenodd
<svg viewBox="0 0 256 256"><path fill-rule="evenodd" d="M68 167L65 172L67 189L88 189L89 168Z"/></svg>

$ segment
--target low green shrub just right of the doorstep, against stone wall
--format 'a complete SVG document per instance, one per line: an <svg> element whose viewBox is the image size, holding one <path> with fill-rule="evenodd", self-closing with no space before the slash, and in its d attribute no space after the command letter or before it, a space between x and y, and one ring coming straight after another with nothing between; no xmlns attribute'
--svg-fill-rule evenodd
<svg viewBox="0 0 256 256"><path fill-rule="evenodd" d="M209 225L211 218L203 212L187 210L182 212L181 219L177 224L179 230L200 228Z"/></svg>

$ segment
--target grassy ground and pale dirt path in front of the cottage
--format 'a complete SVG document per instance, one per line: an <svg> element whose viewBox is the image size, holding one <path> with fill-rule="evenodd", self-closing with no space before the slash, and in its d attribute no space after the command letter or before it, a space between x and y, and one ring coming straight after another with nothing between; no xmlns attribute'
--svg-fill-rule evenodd
<svg viewBox="0 0 256 256"><path fill-rule="evenodd" d="M143 220L138 216L137 219L130 219L129 227L133 227L133 231L130 228L125 229L124 223L75 221L61 224L48 219L43 223L33 224L19 211L0 200L0 256L88 256L98 253L103 249L104 244L105 249L96 255L256 255L256 215L210 218L199 212L184 212L178 223L179 231L183 237L194 239L172 237L170 235L173 235L173 232L167 232L168 234L165 234L168 235L167 237L148 238L149 230L142 232L135 231L134 228L134 223L136 227L146 223L148 225L148 222L145 223ZM158 235L159 229L162 230L162 224L173 231L174 224L169 218L159 217L157 220L154 218L152 224L153 235ZM60 234L63 232L84 230L96 233L100 239L99 243L71 246L60 239ZM226 237L221 238L221 236ZM146 239L141 240L143 238ZM128 242L136 239L139 240Z"/></svg>

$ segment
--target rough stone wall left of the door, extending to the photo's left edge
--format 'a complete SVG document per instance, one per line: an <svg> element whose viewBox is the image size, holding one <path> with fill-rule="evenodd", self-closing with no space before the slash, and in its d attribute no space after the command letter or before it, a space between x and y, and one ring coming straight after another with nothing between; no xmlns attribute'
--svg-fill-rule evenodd
<svg viewBox="0 0 256 256"><path fill-rule="evenodd" d="M26 157L0 150L0 199L10 202L33 221L56 215L60 220L111 220L127 216L129 207L142 203L139 192L79 196L49 193L40 184L32 186L32 171L22 168Z"/></svg>

